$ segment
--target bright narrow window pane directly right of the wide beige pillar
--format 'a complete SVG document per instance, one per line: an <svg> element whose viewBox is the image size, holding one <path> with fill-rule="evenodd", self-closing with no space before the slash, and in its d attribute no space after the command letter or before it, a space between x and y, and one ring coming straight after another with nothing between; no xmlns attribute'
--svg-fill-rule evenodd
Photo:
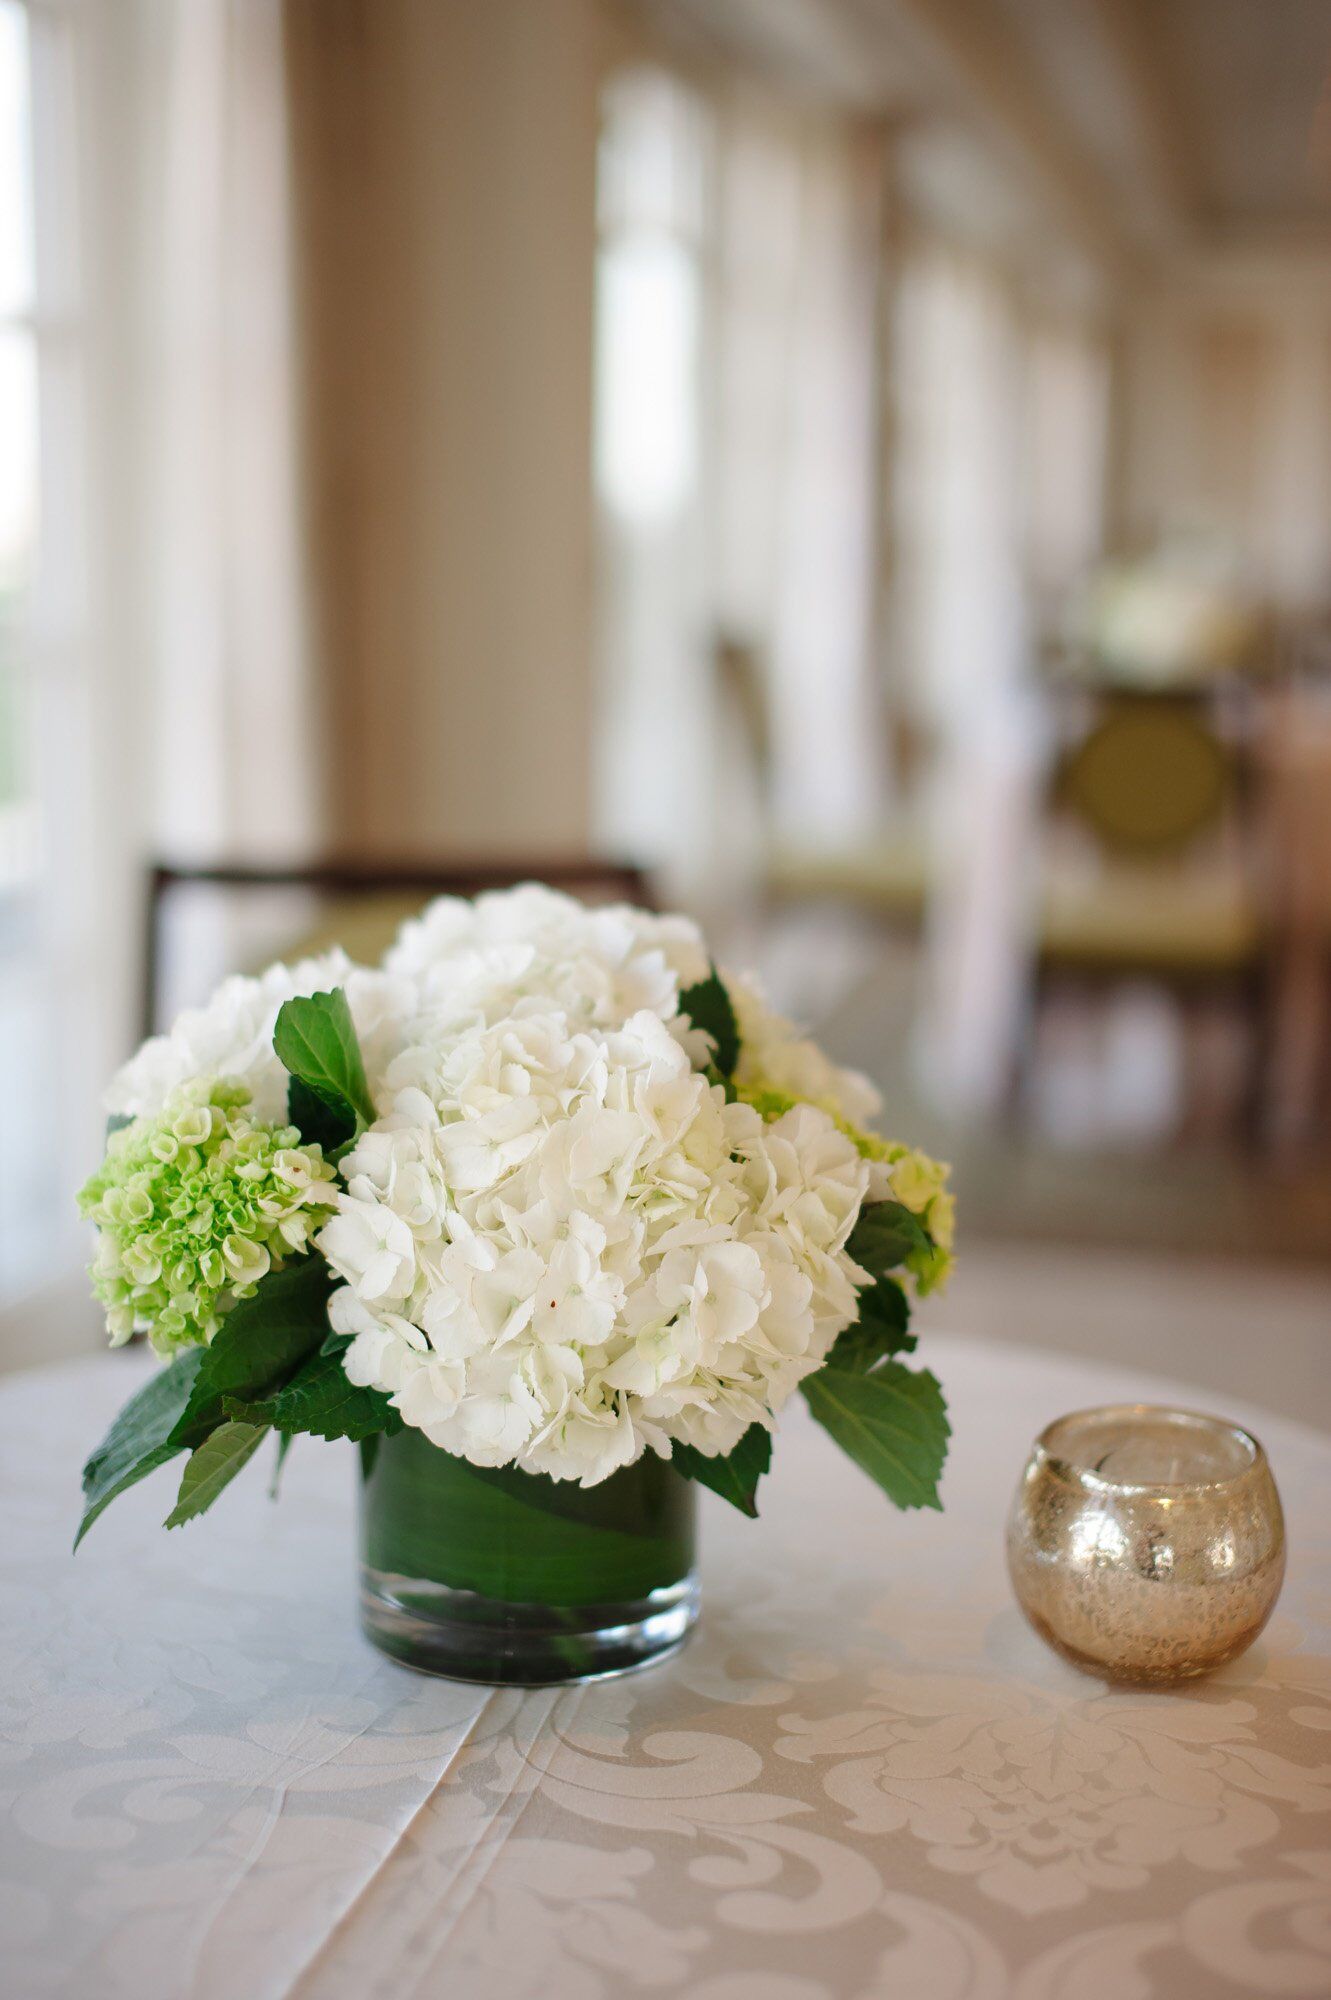
<svg viewBox="0 0 1331 2000"><path fill-rule="evenodd" d="M709 120L664 70L602 98L596 492L602 684L598 836L654 866L705 856L701 522L703 216Z"/></svg>

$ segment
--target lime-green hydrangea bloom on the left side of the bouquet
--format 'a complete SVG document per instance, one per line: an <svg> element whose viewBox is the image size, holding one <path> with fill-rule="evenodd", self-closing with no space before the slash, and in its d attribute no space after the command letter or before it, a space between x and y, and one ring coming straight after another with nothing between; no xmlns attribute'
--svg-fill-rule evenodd
<svg viewBox="0 0 1331 2000"><path fill-rule="evenodd" d="M114 1132L78 1196L96 1222L92 1288L112 1346L146 1328L158 1354L210 1342L222 1316L336 1204L336 1170L296 1126L248 1116L226 1078L176 1090L160 1116Z"/></svg>

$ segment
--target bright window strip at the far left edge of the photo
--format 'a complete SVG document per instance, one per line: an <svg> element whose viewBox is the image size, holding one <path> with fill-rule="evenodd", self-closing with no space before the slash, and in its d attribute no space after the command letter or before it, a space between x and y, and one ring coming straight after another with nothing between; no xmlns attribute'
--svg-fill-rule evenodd
<svg viewBox="0 0 1331 2000"><path fill-rule="evenodd" d="M72 1238L70 966L44 894L84 750L72 14L0 0L0 1296Z"/></svg>

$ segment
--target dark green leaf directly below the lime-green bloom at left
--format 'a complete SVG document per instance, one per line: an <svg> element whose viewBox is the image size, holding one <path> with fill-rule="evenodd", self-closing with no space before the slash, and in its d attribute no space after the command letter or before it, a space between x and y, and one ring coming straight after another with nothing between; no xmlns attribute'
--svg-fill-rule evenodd
<svg viewBox="0 0 1331 2000"><path fill-rule="evenodd" d="M172 1432L174 1444L202 1444L226 1416L224 1398L274 1396L328 1334L332 1278L318 1256L294 1258L260 1278L250 1298L222 1320L204 1348L194 1392Z"/></svg>

